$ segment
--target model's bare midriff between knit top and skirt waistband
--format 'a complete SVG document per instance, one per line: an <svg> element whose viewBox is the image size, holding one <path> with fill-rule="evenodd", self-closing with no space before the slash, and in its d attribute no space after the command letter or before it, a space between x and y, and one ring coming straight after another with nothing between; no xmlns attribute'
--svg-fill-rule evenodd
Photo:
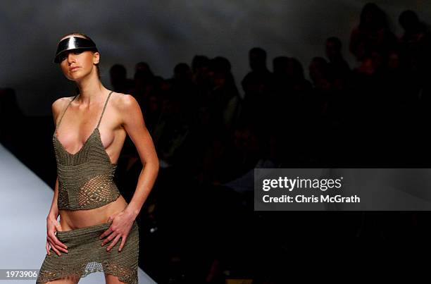
<svg viewBox="0 0 431 284"><path fill-rule="evenodd" d="M58 210L61 230L75 230L108 222L109 216L123 211L127 202L120 195L114 202L94 209Z"/></svg>

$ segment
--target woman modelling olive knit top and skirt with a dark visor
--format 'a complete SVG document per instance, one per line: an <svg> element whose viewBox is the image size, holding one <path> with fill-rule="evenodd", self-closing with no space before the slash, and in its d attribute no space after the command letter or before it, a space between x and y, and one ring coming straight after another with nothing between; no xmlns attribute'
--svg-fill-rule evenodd
<svg viewBox="0 0 431 284"><path fill-rule="evenodd" d="M58 178L37 283L77 283L95 271L104 271L106 283L137 283L135 218L156 180L158 157L134 97L102 85L99 58L87 35L74 32L58 43L54 62L79 94L52 104ZM113 183L126 135L144 165L129 204Z"/></svg>

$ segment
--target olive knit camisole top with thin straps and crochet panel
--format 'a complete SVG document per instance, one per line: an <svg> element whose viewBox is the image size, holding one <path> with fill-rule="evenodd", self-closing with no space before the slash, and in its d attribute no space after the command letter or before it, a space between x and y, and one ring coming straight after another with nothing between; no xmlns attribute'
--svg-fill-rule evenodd
<svg viewBox="0 0 431 284"><path fill-rule="evenodd" d="M65 107L53 135L54 152L58 175L58 209L80 210L94 209L115 201L120 196L118 187L113 182L116 163L111 163L101 142L99 125L104 115L106 104L112 92L108 94L99 123L87 141L75 154L65 150L58 140L57 129L73 97Z"/></svg>

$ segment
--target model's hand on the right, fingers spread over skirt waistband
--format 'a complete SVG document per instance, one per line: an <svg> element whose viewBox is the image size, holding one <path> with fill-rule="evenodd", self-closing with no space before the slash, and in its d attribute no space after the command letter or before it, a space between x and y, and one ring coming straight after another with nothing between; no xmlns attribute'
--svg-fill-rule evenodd
<svg viewBox="0 0 431 284"><path fill-rule="evenodd" d="M118 212L116 214L113 214L109 216L108 222L111 222L111 226L104 231L103 234L100 235L99 239L102 239L106 237L106 239L101 243L102 246L104 246L107 242L110 242L113 239L113 242L111 242L111 245L108 246L106 251L109 251L110 249L115 246L115 244L120 240L121 237L121 244L118 248L118 252L123 249L123 246L125 244L125 241L127 239L127 235L129 235L130 229L132 228L133 222L135 221L135 216L130 214L128 211L124 210L121 212Z"/></svg>

